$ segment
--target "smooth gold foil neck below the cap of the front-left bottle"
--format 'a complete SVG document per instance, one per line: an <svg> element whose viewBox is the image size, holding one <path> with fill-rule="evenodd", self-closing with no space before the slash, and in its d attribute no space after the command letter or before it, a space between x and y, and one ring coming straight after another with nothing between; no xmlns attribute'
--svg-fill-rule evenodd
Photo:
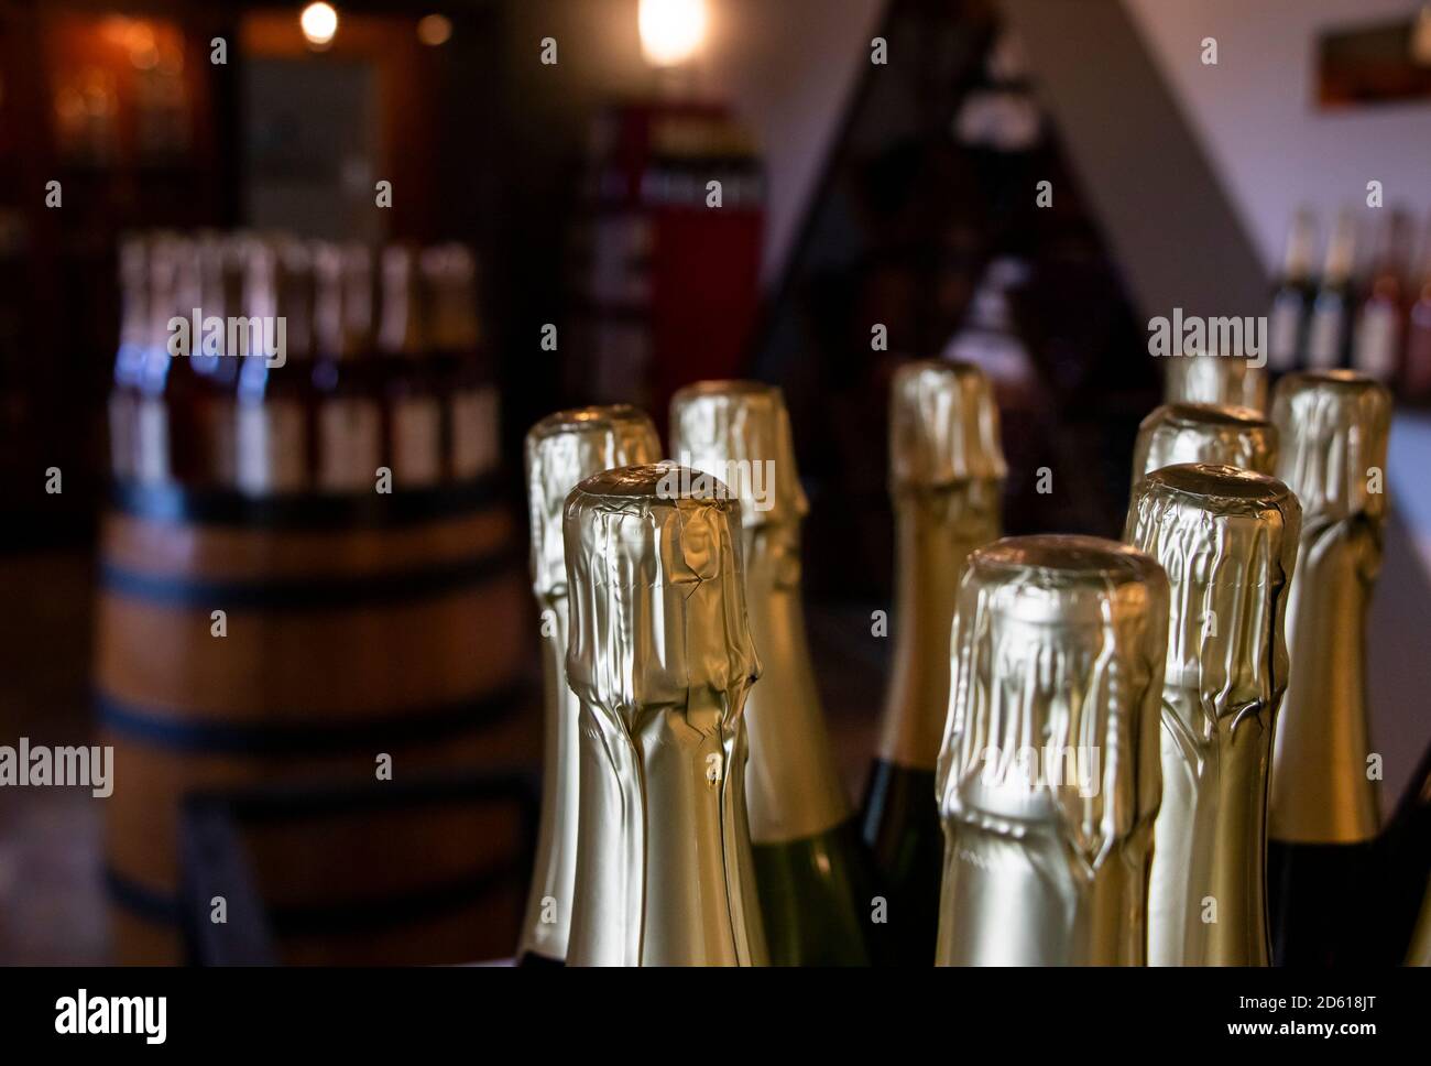
<svg viewBox="0 0 1431 1066"><path fill-rule="evenodd" d="M680 707L582 704L570 963L764 963L746 730L727 704L698 691Z"/></svg>

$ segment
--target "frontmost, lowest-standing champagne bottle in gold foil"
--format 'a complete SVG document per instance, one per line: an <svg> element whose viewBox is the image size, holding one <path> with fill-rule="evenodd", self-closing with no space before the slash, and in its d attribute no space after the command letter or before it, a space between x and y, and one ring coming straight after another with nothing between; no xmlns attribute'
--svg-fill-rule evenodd
<svg viewBox="0 0 1431 1066"><path fill-rule="evenodd" d="M1141 966L1168 580L1093 537L976 551L939 757L940 966Z"/></svg>

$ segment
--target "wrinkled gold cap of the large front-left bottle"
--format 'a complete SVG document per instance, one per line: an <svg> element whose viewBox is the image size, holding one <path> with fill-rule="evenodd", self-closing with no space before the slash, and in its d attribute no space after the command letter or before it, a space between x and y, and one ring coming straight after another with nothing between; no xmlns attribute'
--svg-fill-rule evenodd
<svg viewBox="0 0 1431 1066"><path fill-rule="evenodd" d="M697 707L740 717L760 660L746 621L740 502L674 462L597 474L565 509L567 675L618 715Z"/></svg>

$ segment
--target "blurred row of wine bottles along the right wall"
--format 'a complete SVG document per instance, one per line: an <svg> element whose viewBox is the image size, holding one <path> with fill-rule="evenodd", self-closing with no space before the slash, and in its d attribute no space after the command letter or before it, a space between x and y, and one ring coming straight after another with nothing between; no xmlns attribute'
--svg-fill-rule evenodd
<svg viewBox="0 0 1431 1066"><path fill-rule="evenodd" d="M1268 309L1274 372L1355 369L1398 396L1431 404L1431 219L1395 206L1342 209L1318 248L1299 209Z"/></svg>

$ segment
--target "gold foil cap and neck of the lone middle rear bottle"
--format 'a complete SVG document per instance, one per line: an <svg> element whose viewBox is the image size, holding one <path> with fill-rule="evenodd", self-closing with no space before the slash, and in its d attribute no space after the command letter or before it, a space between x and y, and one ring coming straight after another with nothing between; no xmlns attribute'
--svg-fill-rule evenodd
<svg viewBox="0 0 1431 1066"><path fill-rule="evenodd" d="M949 632L964 561L999 538L1007 468L983 371L920 361L890 391L894 502L893 671L879 757L933 770L949 710Z"/></svg>

